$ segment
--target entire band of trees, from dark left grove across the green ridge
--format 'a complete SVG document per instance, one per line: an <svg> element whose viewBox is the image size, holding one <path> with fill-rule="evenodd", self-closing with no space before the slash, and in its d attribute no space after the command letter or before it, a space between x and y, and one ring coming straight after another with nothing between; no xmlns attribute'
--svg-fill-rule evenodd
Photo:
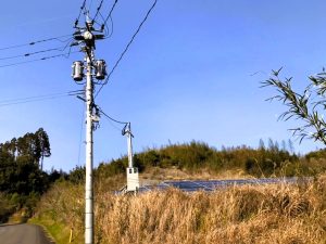
<svg viewBox="0 0 326 244"><path fill-rule="evenodd" d="M326 170L326 151L298 156L285 143L260 141L258 149L238 146L216 150L203 142L192 141L170 144L160 149L148 149L134 155L135 166L140 172L152 169L177 169L187 174L205 171L212 176L226 170L240 169L253 177L313 176ZM40 195L58 179L72 183L84 183L85 167L76 167L70 174L58 170L45 172L43 158L51 155L47 132L36 132L0 143L0 222L13 211L24 209L30 216ZM127 157L123 156L101 163L95 169L96 182L125 179ZM111 184L110 184L111 185ZM116 190L116 189L115 189Z"/></svg>

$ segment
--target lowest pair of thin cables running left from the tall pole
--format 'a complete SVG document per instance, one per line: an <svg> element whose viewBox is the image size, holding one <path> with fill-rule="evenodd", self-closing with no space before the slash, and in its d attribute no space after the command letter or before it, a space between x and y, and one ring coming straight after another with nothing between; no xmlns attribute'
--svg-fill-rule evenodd
<svg viewBox="0 0 326 244"><path fill-rule="evenodd" d="M62 93L35 95L35 97L21 98L21 99L8 99L8 100L0 101L0 107L30 103L30 102L39 102L39 101L45 101L45 100L53 100L53 99L71 97L71 95L77 95L77 94L82 94L82 92L84 92L84 91L75 90L75 91L67 91L67 92L62 92Z"/></svg>

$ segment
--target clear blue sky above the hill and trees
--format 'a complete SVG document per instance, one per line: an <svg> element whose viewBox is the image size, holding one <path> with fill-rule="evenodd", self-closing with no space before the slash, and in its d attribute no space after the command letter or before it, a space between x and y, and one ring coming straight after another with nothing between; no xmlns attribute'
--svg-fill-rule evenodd
<svg viewBox="0 0 326 244"><path fill-rule="evenodd" d="M72 34L80 4L82 0L3 1L0 48ZM91 13L98 4L99 0L92 1ZM104 16L111 4L112 0L104 0ZM98 42L96 52L109 69L151 4L149 0L118 1L112 15L114 33ZM275 91L260 89L260 81L268 78L271 69L284 66L283 74L293 76L294 87L302 89L306 77L325 66L325 7L322 0L160 0L97 103L112 117L131 121L136 152L168 141L198 140L221 149L254 147L260 139L288 140L287 129L298 121L277 121L286 107L264 101ZM0 59L61 46L52 41L2 50ZM0 67L0 101L82 89L71 79L72 62L82 59L77 53ZM27 60L0 60L0 66ZM84 105L78 99L0 110L1 142L43 127L52 150L46 169L84 165ZM316 146L322 145L304 141L296 143L296 151L306 153ZM95 132L95 165L126 150L121 131L102 118Z"/></svg>

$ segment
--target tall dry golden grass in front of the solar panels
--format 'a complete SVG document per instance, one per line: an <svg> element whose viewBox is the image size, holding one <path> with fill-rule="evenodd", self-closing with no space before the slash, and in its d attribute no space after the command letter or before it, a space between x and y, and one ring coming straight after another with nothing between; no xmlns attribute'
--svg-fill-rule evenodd
<svg viewBox="0 0 326 244"><path fill-rule="evenodd" d="M52 189L38 216L55 208L53 218L75 226L77 240L83 240L82 189ZM116 196L101 188L96 228L96 243L103 244L325 244L326 177L305 185L244 185L193 194L171 189Z"/></svg>

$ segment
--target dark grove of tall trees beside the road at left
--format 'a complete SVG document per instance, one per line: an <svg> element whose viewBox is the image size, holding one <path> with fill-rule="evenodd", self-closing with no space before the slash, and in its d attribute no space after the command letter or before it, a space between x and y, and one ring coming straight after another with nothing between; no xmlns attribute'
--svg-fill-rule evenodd
<svg viewBox="0 0 326 244"><path fill-rule="evenodd" d="M39 196L62 175L42 170L43 158L50 155L42 128L0 143L0 222L20 209L28 217Z"/></svg>

